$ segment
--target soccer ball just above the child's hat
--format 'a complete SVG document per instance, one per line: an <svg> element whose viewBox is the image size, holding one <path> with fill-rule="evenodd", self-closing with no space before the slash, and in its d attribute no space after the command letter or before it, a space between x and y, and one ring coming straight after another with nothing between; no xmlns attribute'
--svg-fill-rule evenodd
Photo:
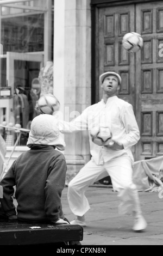
<svg viewBox="0 0 163 256"><path fill-rule="evenodd" d="M57 97L46 94L42 95L37 102L37 108L42 114L53 114L53 112L58 111L60 103Z"/></svg>

